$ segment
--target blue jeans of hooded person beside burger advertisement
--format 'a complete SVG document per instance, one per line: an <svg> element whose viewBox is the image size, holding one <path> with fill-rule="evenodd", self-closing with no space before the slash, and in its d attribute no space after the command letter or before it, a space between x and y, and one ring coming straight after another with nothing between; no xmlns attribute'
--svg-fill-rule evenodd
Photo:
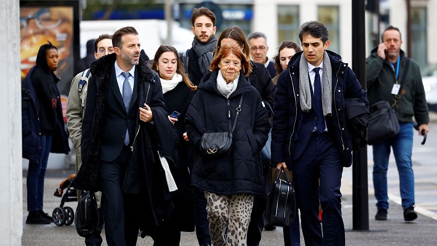
<svg viewBox="0 0 437 246"><path fill-rule="evenodd" d="M44 178L51 148L51 135L41 136L41 152L38 162L29 161L27 171L27 211L43 210Z"/></svg>

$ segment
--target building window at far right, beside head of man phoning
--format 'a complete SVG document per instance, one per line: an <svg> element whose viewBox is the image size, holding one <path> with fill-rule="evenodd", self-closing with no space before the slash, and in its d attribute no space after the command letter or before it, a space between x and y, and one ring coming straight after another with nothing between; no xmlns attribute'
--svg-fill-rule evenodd
<svg viewBox="0 0 437 246"><path fill-rule="evenodd" d="M426 33L426 7L411 8L411 54L408 54L420 66L426 66L427 57L427 33ZM404 39L404 37L403 37Z"/></svg>

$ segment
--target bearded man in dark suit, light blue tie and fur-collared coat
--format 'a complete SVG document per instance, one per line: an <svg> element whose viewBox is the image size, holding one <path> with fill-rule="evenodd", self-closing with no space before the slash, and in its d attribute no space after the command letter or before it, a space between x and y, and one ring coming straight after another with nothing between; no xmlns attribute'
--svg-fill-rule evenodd
<svg viewBox="0 0 437 246"><path fill-rule="evenodd" d="M107 244L133 246L140 226L158 225L173 209L159 166L162 156L169 164L177 159L176 134L136 30L119 29L112 43L114 53L90 67L75 188L101 190Z"/></svg>

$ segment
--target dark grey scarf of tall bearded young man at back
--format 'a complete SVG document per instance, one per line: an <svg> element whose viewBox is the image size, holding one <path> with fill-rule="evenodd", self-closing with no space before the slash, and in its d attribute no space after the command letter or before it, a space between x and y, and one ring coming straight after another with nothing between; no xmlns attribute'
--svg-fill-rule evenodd
<svg viewBox="0 0 437 246"><path fill-rule="evenodd" d="M197 62L202 75L205 75L209 71L209 65L212 62L213 53L216 50L217 40L217 37L213 36L211 40L203 44L199 42L196 37L194 37L193 49L194 52L196 52L197 57L199 57Z"/></svg>

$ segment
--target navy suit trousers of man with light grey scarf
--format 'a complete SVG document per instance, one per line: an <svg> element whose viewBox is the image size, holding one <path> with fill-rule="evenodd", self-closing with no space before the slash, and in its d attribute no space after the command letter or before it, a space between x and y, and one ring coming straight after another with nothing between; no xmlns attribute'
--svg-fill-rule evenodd
<svg viewBox="0 0 437 246"><path fill-rule="evenodd" d="M305 245L345 245L340 199L343 165L338 151L329 133L313 132L302 155L292 162ZM323 210L323 236L319 222L319 203Z"/></svg>

